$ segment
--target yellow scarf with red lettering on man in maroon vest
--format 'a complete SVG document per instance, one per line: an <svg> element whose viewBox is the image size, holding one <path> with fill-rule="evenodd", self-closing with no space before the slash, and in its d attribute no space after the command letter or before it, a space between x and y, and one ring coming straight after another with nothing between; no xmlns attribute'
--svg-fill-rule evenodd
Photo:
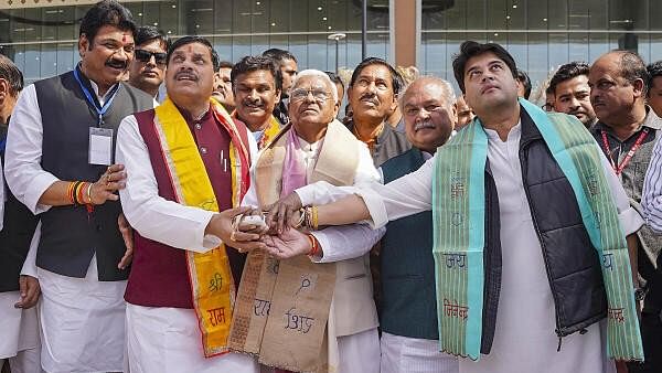
<svg viewBox="0 0 662 373"><path fill-rule="evenodd" d="M225 109L211 100L212 114L231 137L232 203L238 206L248 189L248 150L242 142L234 121ZM177 106L166 98L158 106L154 127L159 136L163 160L175 192L177 202L218 212L218 204L204 162L193 135ZM232 277L226 247L221 244L206 253L186 251L186 264L193 307L197 316L205 358L228 351L227 338L235 302L235 284Z"/></svg>

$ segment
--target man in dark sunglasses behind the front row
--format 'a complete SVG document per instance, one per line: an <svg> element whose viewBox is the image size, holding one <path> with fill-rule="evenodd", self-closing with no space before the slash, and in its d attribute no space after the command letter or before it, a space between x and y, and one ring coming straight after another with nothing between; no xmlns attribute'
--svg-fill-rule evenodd
<svg viewBox="0 0 662 373"><path fill-rule="evenodd" d="M166 52L170 40L163 31L146 25L136 33L136 58L129 67L129 84L158 99L166 74Z"/></svg>

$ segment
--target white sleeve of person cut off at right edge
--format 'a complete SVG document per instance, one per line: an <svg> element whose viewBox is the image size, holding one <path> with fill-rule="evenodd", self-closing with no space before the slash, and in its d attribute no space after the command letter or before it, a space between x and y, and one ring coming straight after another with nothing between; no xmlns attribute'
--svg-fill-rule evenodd
<svg viewBox="0 0 662 373"><path fill-rule="evenodd" d="M645 172L641 207L647 224L655 232L662 232L662 142L658 140Z"/></svg>

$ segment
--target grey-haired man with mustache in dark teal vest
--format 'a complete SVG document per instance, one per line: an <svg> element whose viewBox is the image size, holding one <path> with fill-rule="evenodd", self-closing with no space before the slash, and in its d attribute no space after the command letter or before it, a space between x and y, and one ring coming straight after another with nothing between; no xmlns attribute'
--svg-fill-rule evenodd
<svg viewBox="0 0 662 373"><path fill-rule="evenodd" d="M450 84L440 78L426 76L415 79L398 103L405 120L405 134L413 148L382 164L384 183L418 170L450 138L457 121L455 94ZM292 193L292 196L296 195ZM317 198L332 200L332 195ZM291 202L293 209L300 207L300 201ZM284 235L287 236L284 239L287 245L278 239L268 244L274 255L289 257L310 251L311 245L305 236ZM361 251L356 241L345 242L344 251ZM322 242L321 245L323 256L333 255L337 248L327 248L324 244ZM381 372L409 372L413 366L416 366L416 372L458 372L458 360L438 352L431 212L389 222L381 247ZM407 359L403 359L405 354Z"/></svg>

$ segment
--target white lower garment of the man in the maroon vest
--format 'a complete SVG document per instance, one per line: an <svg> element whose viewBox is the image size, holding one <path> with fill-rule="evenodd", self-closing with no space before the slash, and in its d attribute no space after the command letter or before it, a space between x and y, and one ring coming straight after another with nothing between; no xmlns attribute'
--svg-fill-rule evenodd
<svg viewBox="0 0 662 373"><path fill-rule="evenodd" d="M253 356L238 353L205 359L192 309L127 305L131 373L258 373Z"/></svg>

